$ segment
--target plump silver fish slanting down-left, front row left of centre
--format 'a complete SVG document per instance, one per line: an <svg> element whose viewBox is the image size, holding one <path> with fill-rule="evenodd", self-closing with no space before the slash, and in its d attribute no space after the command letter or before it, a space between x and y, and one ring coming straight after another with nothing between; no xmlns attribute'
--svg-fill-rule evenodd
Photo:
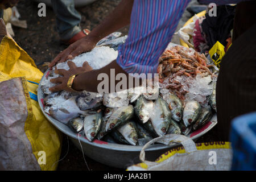
<svg viewBox="0 0 256 182"><path fill-rule="evenodd" d="M126 122L133 117L134 109L132 105L118 107L117 110L110 116L108 122L106 123L106 132L124 125Z"/></svg>

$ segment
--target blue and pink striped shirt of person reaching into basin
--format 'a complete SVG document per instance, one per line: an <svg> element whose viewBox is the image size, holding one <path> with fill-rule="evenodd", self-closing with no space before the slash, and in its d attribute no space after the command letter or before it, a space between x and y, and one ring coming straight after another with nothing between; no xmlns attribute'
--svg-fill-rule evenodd
<svg viewBox="0 0 256 182"><path fill-rule="evenodd" d="M236 1L199 0L223 5ZM171 42L190 0L134 0L126 42L119 46L117 63L127 73L156 73L158 59Z"/></svg>

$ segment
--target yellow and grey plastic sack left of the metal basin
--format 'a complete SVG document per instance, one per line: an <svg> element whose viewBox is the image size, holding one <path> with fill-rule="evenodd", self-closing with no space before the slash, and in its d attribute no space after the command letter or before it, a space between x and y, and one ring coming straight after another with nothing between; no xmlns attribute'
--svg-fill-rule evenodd
<svg viewBox="0 0 256 182"><path fill-rule="evenodd" d="M0 56L0 168L56 170L62 135L36 101L43 73L7 36L0 44Z"/></svg>

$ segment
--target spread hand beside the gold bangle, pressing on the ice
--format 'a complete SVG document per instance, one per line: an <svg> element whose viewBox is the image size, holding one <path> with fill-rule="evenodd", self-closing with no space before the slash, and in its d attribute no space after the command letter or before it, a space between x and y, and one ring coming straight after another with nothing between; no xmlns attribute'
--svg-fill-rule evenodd
<svg viewBox="0 0 256 182"><path fill-rule="evenodd" d="M72 61L68 61L68 66L70 68L68 71L65 69L55 69L55 73L62 75L63 77L52 78L50 81L58 85L52 86L51 88L49 88L49 91L57 92L60 90L65 90L68 92L74 92L73 89L68 88L67 86L69 77L71 77L72 75L76 75L76 74L80 74L80 73L84 73L92 70L92 67L90 67L90 65L86 61L82 65L82 67L76 67L75 63L73 63Z"/></svg>

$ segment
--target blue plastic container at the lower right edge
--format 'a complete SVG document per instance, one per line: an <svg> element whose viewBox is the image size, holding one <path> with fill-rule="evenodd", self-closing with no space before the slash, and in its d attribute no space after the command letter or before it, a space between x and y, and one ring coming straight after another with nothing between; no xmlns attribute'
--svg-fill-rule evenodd
<svg viewBox="0 0 256 182"><path fill-rule="evenodd" d="M232 121L232 170L256 170L256 112Z"/></svg>

